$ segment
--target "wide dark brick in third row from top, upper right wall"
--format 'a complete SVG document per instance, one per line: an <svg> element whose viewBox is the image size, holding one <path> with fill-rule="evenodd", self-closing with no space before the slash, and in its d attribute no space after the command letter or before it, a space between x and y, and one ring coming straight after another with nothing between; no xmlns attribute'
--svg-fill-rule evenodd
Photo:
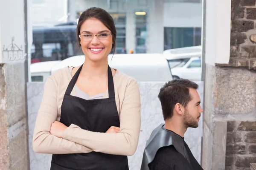
<svg viewBox="0 0 256 170"><path fill-rule="evenodd" d="M248 31L254 28L253 21L245 20L233 20L232 21L232 31Z"/></svg>

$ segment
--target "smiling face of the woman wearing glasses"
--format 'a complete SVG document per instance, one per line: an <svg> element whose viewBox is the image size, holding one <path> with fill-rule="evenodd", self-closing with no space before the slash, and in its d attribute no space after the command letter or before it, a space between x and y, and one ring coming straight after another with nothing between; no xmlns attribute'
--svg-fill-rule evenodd
<svg viewBox="0 0 256 170"><path fill-rule="evenodd" d="M87 59L99 61L108 58L113 44L112 35L109 35L110 33L111 31L96 18L89 18L84 21L80 28L80 35L86 35L82 35L80 44ZM91 37L88 34L101 34L101 36L99 38L97 36Z"/></svg>

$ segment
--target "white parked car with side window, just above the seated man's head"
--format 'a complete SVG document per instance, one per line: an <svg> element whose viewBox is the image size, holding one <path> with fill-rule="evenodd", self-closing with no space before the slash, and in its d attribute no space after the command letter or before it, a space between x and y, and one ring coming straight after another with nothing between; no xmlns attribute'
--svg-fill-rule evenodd
<svg viewBox="0 0 256 170"><path fill-rule="evenodd" d="M171 68L173 79L189 79L191 81L201 81L202 67L201 57L184 59L174 68Z"/></svg>

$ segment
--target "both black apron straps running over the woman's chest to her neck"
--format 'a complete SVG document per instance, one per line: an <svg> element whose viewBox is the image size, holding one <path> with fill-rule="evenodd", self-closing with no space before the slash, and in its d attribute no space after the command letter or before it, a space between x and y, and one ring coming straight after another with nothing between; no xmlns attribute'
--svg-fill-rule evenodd
<svg viewBox="0 0 256 170"><path fill-rule="evenodd" d="M81 72L81 69L84 64L80 66L80 68L76 71L76 74L72 77L70 80L70 83L67 86L67 90L65 92L66 95L70 95L71 91L73 90L76 80L79 77L79 74ZM113 82L113 76L112 76L112 71L111 68L108 65L108 98L115 98L115 88L114 88L114 82Z"/></svg>

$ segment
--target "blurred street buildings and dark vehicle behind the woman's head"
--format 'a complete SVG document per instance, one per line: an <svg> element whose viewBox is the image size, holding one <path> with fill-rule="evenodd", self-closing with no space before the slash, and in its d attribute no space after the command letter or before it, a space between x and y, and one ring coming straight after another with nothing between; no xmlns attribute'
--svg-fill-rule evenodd
<svg viewBox="0 0 256 170"><path fill-rule="evenodd" d="M147 3L146 3L147 2ZM96 6L116 25L116 54L163 53L201 45L201 1L165 0L32 0L31 62L83 55L76 44L81 12ZM153 4L153 5L152 5ZM190 11L189 11L190 10Z"/></svg>

